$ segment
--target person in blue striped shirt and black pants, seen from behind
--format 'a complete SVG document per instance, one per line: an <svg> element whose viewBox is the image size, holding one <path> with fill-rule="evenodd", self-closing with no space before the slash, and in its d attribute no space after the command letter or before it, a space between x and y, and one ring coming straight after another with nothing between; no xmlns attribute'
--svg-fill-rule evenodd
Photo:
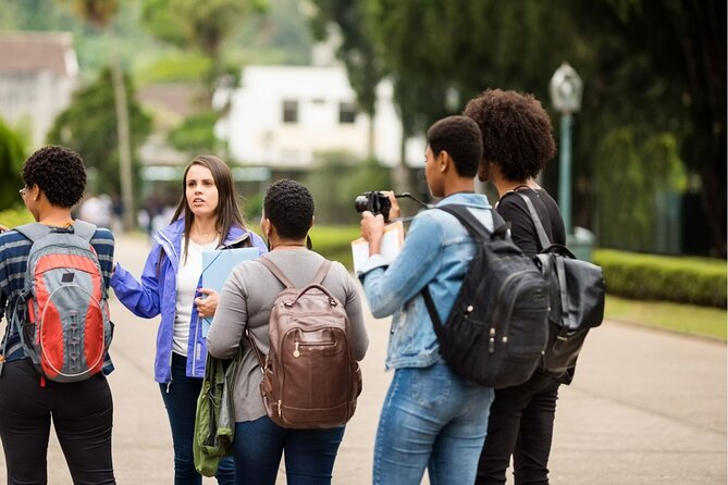
<svg viewBox="0 0 728 485"><path fill-rule="evenodd" d="M92 234L90 244L108 288L114 253L111 232L101 227L92 232L94 226L71 216L86 188L86 169L78 153L63 147L42 148L25 161L22 175L25 185L20 197L37 223L55 233L79 233L85 227L89 236ZM113 484L113 403L106 377L113 365L108 353L101 372L85 381L47 380L26 356L16 325L9 324L25 286L33 246L20 231L0 234L0 318L4 315L7 328L0 357L0 438L8 483L48 482L46 458L52 421L73 483Z"/></svg>

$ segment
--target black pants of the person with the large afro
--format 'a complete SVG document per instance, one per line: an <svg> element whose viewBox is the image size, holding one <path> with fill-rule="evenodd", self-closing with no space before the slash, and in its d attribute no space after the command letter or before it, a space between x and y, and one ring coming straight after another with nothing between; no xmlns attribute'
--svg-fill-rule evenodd
<svg viewBox="0 0 728 485"><path fill-rule="evenodd" d="M496 389L476 484L505 484L511 455L516 485L548 484L548 453L560 384L536 372L523 384Z"/></svg>

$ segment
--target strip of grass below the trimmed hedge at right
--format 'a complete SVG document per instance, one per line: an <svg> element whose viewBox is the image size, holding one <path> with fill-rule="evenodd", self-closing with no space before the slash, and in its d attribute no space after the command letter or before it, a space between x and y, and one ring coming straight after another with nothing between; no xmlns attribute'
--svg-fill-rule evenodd
<svg viewBox="0 0 728 485"><path fill-rule="evenodd" d="M726 340L726 310L607 296L605 318Z"/></svg>

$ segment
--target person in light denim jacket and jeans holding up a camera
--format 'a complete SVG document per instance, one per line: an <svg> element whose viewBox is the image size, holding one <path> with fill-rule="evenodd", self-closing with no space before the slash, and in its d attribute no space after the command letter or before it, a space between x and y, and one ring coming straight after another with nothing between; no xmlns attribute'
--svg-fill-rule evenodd
<svg viewBox="0 0 728 485"><path fill-rule="evenodd" d="M493 228L490 204L473 190L482 154L478 125L448 116L428 130L424 173L436 207L462 204ZM391 215L399 213L396 199ZM365 211L361 234L370 257L358 276L372 314L394 315L385 366L394 370L374 445L374 484L472 484L485 439L493 389L455 375L440 356L421 291L428 286L440 318L447 315L474 256L474 241L444 211L421 212L409 227L402 252L387 266L380 254L381 214Z"/></svg>

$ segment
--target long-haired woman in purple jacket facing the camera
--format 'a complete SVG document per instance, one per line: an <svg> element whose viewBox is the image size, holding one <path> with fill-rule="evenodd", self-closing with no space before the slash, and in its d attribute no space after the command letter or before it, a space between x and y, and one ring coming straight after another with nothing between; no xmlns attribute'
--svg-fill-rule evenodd
<svg viewBox="0 0 728 485"><path fill-rule="evenodd" d="M111 286L137 316L161 314L157 333L155 380L159 383L174 444L175 485L200 485L193 435L202 386L207 344L202 318L212 316L219 295L201 287L202 251L220 247L257 247L263 240L245 228L230 167L217 157L193 160L172 223L153 237L141 282L116 264ZM219 484L234 483L232 458L220 461Z"/></svg>

